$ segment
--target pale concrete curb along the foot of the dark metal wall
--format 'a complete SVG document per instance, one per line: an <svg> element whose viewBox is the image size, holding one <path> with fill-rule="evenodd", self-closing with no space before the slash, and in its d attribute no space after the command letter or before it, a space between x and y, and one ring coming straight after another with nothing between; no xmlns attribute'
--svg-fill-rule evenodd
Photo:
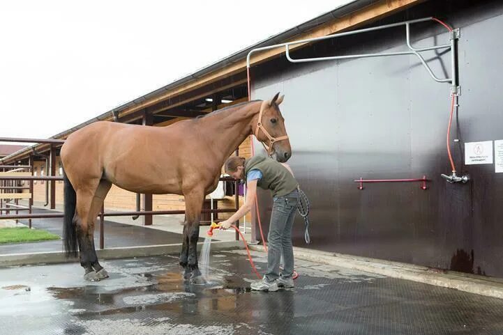
<svg viewBox="0 0 503 335"><path fill-rule="evenodd" d="M262 246L250 246L255 251L263 251ZM364 258L326 251L316 251L294 247L294 256L315 263L344 267L362 272L381 274L392 278L426 283L444 288L453 288L476 295L503 299L503 279L465 274L462 272L435 272L428 267L407 263L391 262L375 258Z"/></svg>

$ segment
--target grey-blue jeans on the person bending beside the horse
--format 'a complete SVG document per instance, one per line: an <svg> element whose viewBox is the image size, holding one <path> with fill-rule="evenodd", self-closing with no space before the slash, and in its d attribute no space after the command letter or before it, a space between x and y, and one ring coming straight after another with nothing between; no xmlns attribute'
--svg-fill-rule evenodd
<svg viewBox="0 0 503 335"><path fill-rule="evenodd" d="M294 250L292 247L292 226L299 203L299 192L273 198L271 223L269 224L269 252L267 253L266 280L274 281L280 276L280 261L283 256L281 276L287 279L294 272Z"/></svg>

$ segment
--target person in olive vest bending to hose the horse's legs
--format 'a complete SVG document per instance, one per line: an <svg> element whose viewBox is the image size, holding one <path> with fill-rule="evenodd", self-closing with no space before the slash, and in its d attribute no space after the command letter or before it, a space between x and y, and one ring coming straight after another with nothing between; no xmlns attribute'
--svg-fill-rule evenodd
<svg viewBox="0 0 503 335"><path fill-rule="evenodd" d="M257 186L270 189L273 196L273 210L267 235L267 272L262 281L251 284L252 290L276 291L280 287L293 288L292 224L299 203L299 183L295 180L290 166L269 157L255 156L247 160L243 157L230 157L225 162L225 172L236 179L245 179L248 189L246 203L229 219L220 223L222 229L229 228L253 208ZM280 273L282 254L284 264Z"/></svg>

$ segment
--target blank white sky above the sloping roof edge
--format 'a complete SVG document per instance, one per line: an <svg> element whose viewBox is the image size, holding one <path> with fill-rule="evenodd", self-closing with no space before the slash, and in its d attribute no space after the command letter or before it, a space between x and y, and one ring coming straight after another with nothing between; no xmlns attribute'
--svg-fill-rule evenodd
<svg viewBox="0 0 503 335"><path fill-rule="evenodd" d="M0 137L51 137L348 2L1 1Z"/></svg>

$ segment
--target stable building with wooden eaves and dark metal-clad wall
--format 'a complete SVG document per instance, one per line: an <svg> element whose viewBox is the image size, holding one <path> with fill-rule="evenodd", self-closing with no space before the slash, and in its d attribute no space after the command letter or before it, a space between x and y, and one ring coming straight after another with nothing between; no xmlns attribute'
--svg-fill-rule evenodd
<svg viewBox="0 0 503 335"><path fill-rule="evenodd" d="M297 217L294 244L503 276L503 41L487 33L502 26L503 3L496 0L352 1L54 139L96 120L163 126L246 101L248 54L280 45L250 56L250 98L285 94L289 164L311 203L312 243L304 244ZM366 30L341 34L357 29ZM340 35L326 38L333 34ZM285 55L281 44L298 40L306 41ZM446 47L430 48L438 45ZM249 157L251 147L246 140L239 155ZM41 143L0 162L31 157L44 170L40 155L51 148L57 156L57 146ZM50 169L56 175L57 166ZM112 188L105 208L134 208L135 198ZM266 223L269 194L258 201ZM146 194L142 203L183 209L179 196ZM255 229L253 235L260 238Z"/></svg>

